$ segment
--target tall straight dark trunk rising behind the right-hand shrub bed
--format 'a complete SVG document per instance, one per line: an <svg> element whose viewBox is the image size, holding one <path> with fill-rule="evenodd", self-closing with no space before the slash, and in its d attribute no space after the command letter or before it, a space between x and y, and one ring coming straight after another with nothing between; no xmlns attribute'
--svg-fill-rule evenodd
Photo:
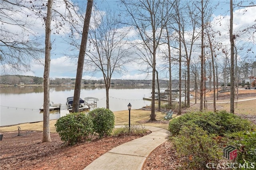
<svg viewBox="0 0 256 170"><path fill-rule="evenodd" d="M233 0L230 0L230 113L234 114L234 39L233 35Z"/></svg>

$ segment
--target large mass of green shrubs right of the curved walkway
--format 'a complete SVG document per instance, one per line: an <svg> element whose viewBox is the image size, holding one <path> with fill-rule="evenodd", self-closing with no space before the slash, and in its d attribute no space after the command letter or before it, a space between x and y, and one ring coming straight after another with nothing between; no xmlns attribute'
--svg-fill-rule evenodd
<svg viewBox="0 0 256 170"><path fill-rule="evenodd" d="M256 162L255 126L237 115L226 111L187 113L172 119L169 130L178 154L186 158L184 169L206 169L208 162L218 164L219 159L223 163L225 145L236 146L238 163Z"/></svg>

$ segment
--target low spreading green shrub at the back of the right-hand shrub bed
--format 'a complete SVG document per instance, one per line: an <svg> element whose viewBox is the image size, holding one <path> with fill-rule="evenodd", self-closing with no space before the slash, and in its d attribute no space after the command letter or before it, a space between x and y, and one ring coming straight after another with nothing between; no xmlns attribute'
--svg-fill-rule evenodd
<svg viewBox="0 0 256 170"><path fill-rule="evenodd" d="M169 130L173 135L179 134L183 126L196 124L209 134L223 136L225 133L250 130L250 122L226 111L192 112L184 114L169 123Z"/></svg>

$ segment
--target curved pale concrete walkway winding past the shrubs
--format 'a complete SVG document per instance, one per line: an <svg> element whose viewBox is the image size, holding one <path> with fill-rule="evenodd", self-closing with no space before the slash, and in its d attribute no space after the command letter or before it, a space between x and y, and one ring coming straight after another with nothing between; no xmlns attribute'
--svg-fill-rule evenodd
<svg viewBox="0 0 256 170"><path fill-rule="evenodd" d="M121 126L115 126L118 128ZM106 152L84 170L141 170L150 153L169 139L170 132L163 128L146 126L151 133Z"/></svg>

